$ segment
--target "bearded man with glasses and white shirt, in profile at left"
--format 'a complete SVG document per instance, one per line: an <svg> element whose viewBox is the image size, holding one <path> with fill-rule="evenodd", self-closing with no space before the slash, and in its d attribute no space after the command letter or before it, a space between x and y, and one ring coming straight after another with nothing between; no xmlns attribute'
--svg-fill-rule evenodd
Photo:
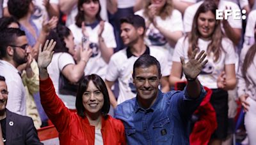
<svg viewBox="0 0 256 145"><path fill-rule="evenodd" d="M0 75L6 78L10 90L6 107L22 115L26 115L26 94L17 67L28 61L28 52L24 31L10 28L0 32Z"/></svg>

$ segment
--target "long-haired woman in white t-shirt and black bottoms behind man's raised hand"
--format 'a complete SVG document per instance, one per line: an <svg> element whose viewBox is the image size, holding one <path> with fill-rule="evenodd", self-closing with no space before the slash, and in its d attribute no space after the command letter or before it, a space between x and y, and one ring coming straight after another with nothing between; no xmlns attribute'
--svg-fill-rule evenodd
<svg viewBox="0 0 256 145"><path fill-rule="evenodd" d="M196 11L193 28L188 36L179 39L173 54L173 66L169 78L170 85L175 85L182 78L182 66L179 57L188 60L195 48L205 50L209 60L200 72L198 79L202 85L211 88L211 104L216 111L218 127L211 137L210 144L221 144L227 137L228 93L236 86L236 53L232 42L226 38L216 20L218 7L212 1L204 2ZM191 81L191 80L188 80Z"/></svg>

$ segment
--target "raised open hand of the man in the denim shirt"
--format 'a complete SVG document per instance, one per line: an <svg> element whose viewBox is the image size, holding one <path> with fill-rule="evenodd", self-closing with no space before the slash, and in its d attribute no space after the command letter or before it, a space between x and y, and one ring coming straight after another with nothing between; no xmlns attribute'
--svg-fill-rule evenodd
<svg viewBox="0 0 256 145"><path fill-rule="evenodd" d="M185 63L184 57L180 57L180 62L182 64L182 69L186 78L196 79L196 77L202 71L202 68L208 62L208 60L204 60L206 57L204 50L202 50L196 57L197 52L198 52L198 48L196 48L193 51L191 58L189 58L188 62L186 63Z"/></svg>

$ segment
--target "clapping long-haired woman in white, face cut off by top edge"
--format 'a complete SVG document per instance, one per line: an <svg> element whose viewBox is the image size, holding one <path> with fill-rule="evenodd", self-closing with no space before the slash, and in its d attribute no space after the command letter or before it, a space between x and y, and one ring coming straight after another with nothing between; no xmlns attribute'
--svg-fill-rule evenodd
<svg viewBox="0 0 256 145"><path fill-rule="evenodd" d="M183 33L182 15L174 9L173 0L146 0L143 10L135 14L145 18L146 44L159 46L159 51L168 55L168 66L171 67L174 46Z"/></svg>

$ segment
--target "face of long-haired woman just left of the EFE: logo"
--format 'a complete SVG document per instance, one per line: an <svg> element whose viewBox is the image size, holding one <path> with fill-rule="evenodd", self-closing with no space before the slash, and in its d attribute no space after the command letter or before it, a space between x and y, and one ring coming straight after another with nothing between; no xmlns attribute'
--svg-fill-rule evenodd
<svg viewBox="0 0 256 145"><path fill-rule="evenodd" d="M215 24L215 16L211 11L200 13L197 18L197 25L201 37L205 39L210 38L214 31Z"/></svg>

